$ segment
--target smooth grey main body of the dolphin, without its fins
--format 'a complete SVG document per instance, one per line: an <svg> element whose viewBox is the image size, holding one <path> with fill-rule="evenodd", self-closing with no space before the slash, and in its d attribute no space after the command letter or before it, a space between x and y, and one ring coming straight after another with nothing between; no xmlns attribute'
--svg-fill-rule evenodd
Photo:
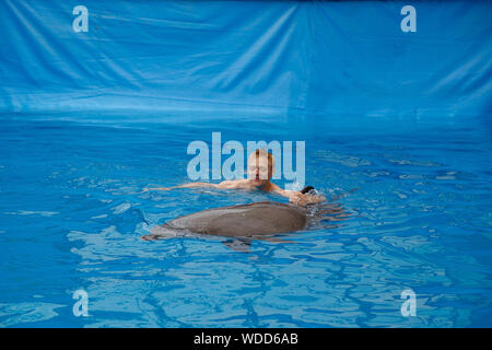
<svg viewBox="0 0 492 350"><path fill-rule="evenodd" d="M222 207L176 218L142 238L175 237L184 232L257 238L302 230L306 226L306 214L305 209L271 201Z"/></svg>

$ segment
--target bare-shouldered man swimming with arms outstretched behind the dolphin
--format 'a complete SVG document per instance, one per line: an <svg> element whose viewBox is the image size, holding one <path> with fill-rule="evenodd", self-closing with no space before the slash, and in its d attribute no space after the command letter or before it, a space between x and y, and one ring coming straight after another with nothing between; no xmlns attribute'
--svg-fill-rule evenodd
<svg viewBox="0 0 492 350"><path fill-rule="evenodd" d="M270 182L273 176L276 161L273 155L266 150L258 149L248 159L248 178L224 180L220 184L189 183L174 187L149 188L148 190L171 190L174 188L212 187L221 189L249 189L273 192L289 198L289 201L297 206L306 206L325 200L321 196L306 195L297 190L285 190Z"/></svg>

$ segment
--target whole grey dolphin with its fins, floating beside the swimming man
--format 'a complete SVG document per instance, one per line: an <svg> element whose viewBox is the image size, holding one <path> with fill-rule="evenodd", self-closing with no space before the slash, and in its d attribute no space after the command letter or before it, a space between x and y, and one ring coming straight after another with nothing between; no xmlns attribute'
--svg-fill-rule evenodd
<svg viewBox="0 0 492 350"><path fill-rule="evenodd" d="M316 209L315 209L316 208ZM329 214L330 217L325 217ZM337 219L336 217L340 217ZM279 237L306 229L316 222L344 220L345 213L338 206L296 207L274 201L230 206L202 210L173 219L154 226L152 233L142 236L144 241L156 241L183 236L212 235L230 237L223 244L234 250L249 252L254 240L277 243L293 243ZM326 225L325 225L326 226ZM336 228L330 225L329 228Z"/></svg>

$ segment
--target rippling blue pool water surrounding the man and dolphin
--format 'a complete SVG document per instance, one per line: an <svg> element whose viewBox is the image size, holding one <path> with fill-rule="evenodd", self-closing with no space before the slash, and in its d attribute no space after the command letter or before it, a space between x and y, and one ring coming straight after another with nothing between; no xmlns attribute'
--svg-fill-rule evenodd
<svg viewBox="0 0 492 350"><path fill-rule="evenodd" d="M1 327L492 326L487 127L133 117L0 120ZM250 253L216 237L141 241L202 209L286 201L140 192L187 182L186 148L212 131L306 141L306 183L328 197L358 188L337 201L352 215ZM79 289L87 317L72 312ZM417 316L400 313L406 289Z"/></svg>

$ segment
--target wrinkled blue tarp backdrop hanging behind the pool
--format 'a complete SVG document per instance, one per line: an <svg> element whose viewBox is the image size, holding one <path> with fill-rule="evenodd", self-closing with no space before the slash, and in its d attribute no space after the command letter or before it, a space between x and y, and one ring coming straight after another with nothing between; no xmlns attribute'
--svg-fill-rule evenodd
<svg viewBox="0 0 492 350"><path fill-rule="evenodd" d="M1 113L491 110L491 1L2 0L0 31Z"/></svg>

